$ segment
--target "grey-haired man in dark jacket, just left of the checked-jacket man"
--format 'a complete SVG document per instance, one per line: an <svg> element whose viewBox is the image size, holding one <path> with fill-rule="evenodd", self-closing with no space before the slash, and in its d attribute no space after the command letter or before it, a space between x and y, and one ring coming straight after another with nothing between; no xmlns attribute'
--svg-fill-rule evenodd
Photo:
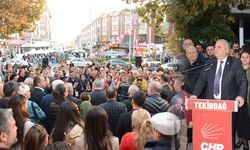
<svg viewBox="0 0 250 150"><path fill-rule="evenodd" d="M107 101L106 93L103 90L103 82L101 80L94 81L94 90L90 92L91 104L98 106Z"/></svg>

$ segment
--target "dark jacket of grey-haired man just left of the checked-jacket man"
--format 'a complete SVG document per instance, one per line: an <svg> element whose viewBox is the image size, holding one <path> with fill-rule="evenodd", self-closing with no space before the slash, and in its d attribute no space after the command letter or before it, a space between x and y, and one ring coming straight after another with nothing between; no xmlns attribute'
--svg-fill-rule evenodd
<svg viewBox="0 0 250 150"><path fill-rule="evenodd" d="M90 92L91 104L94 106L100 105L107 101L106 92L103 90L95 90Z"/></svg>

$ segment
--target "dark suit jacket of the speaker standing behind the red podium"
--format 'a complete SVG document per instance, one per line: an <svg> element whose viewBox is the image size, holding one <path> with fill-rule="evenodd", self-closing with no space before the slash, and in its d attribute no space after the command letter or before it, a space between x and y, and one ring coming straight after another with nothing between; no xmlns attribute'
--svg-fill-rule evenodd
<svg viewBox="0 0 250 150"><path fill-rule="evenodd" d="M203 68L196 83L193 95L199 96L206 88L206 98L214 99L213 83L215 79L217 60ZM240 60L228 56L224 67L221 83L221 99L235 100L237 96L246 99L247 78Z"/></svg>

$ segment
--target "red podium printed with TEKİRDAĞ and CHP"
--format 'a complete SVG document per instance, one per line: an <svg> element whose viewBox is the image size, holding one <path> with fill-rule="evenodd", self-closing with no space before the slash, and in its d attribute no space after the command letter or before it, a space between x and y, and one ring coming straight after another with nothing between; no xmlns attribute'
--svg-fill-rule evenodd
<svg viewBox="0 0 250 150"><path fill-rule="evenodd" d="M231 150L232 112L238 104L232 100L188 99L192 110L193 149Z"/></svg>

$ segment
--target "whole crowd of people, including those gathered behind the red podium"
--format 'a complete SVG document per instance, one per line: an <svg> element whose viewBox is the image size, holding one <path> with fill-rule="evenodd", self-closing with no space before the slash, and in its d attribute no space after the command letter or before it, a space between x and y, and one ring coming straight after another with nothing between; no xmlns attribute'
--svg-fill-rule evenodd
<svg viewBox="0 0 250 150"><path fill-rule="evenodd" d="M237 66L241 78L230 78L237 82L233 94L240 97L229 95L240 104L234 123L239 141L234 145L247 150L249 49L237 55L226 40L218 40L203 50L189 39L183 41L183 48L182 70L101 63L83 68L74 64L1 67L0 149L185 150L193 139L186 98L211 95L207 90L212 85L205 82L204 72L216 66L211 64L217 63L222 51L241 65ZM218 99L227 98L219 90Z"/></svg>

